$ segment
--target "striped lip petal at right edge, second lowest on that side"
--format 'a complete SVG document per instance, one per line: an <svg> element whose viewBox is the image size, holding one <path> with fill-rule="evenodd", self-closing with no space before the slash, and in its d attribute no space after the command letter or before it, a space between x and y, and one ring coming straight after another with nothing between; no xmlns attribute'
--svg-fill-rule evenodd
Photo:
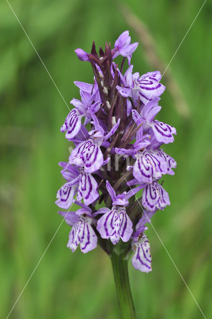
<svg viewBox="0 0 212 319"><path fill-rule="evenodd" d="M156 208L163 210L170 205L168 192L157 182L146 183L143 194L142 204L149 211L155 211Z"/></svg>

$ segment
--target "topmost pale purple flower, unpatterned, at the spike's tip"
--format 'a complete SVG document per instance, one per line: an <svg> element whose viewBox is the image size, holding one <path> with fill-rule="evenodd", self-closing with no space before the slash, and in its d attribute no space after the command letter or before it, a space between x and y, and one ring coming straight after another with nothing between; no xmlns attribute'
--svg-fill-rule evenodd
<svg viewBox="0 0 212 319"><path fill-rule="evenodd" d="M130 65L130 60L132 57L133 52L136 50L138 46L138 42L132 43L131 37L129 36L129 31L124 31L116 40L114 44L114 49L112 50L113 59L115 59L118 55L122 55L127 57L128 63Z"/></svg>

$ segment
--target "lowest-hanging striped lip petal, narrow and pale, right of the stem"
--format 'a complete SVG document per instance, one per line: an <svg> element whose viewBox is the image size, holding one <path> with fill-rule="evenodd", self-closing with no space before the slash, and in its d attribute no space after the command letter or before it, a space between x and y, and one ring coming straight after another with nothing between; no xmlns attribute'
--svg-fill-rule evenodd
<svg viewBox="0 0 212 319"><path fill-rule="evenodd" d="M135 251L132 258L132 265L135 269L149 273L152 271L150 243L144 233L142 233L141 236L137 242L132 243L132 248Z"/></svg>

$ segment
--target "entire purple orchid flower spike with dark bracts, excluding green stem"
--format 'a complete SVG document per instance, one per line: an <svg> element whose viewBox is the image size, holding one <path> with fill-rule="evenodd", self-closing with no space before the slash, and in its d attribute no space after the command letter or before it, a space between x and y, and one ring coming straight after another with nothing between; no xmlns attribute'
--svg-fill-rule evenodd
<svg viewBox="0 0 212 319"><path fill-rule="evenodd" d="M176 129L155 119L165 90L159 83L161 73L133 73L130 63L138 43L130 42L125 31L113 49L106 43L97 54L93 42L90 54L75 50L81 61L91 63L94 83L74 82L81 100L70 102L74 108L61 132L75 148L68 162L59 162L66 183L57 192L56 204L68 209L59 214L72 227L67 244L72 252L79 245L87 253L98 241L110 254L113 245L123 241L126 256L134 251L133 266L149 272L152 259L145 224L158 209L170 205L159 179L174 174L176 161L161 145L174 141ZM120 69L113 61L119 55ZM126 58L129 67L124 73ZM75 212L69 211L73 202L81 207ZM102 202L105 207L99 208Z"/></svg>

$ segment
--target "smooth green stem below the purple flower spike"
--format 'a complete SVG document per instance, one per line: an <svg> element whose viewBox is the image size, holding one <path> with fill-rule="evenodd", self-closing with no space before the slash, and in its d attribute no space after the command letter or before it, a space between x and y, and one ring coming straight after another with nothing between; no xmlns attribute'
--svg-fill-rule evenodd
<svg viewBox="0 0 212 319"><path fill-rule="evenodd" d="M130 290L128 275L128 260L124 256L117 254L116 251L111 253L111 262L113 274L116 283L116 292L121 310L122 319L136 319L135 307Z"/></svg>

